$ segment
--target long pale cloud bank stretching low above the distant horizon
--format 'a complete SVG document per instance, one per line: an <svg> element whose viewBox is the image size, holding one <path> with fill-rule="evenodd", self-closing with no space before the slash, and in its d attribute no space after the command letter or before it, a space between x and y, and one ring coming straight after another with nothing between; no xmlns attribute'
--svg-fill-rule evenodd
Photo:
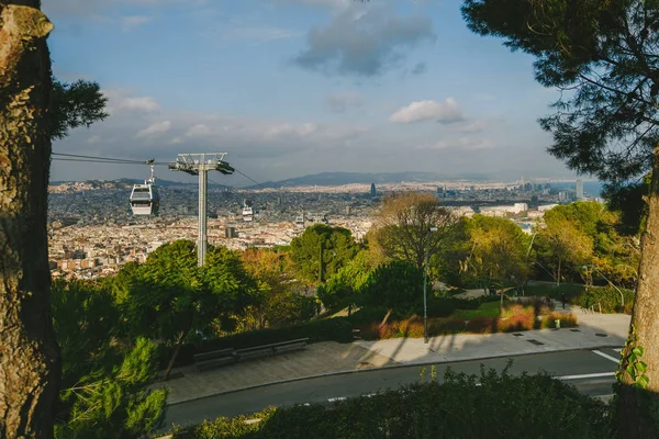
<svg viewBox="0 0 659 439"><path fill-rule="evenodd" d="M432 126L400 130L400 126L386 122L368 126L355 122L293 121L277 116L247 117L219 112L177 111L160 109L154 99L145 100L144 97L125 92L115 92L112 103L122 110L113 112L105 121L89 130L72 130L66 140L55 143L55 150L89 154L90 144L87 140L91 137L102 139L93 145L94 155L139 161L155 158L169 162L178 154L225 150L230 153L227 160L233 166L261 182L326 171L386 172L410 169L456 177L478 168L484 169L483 172L507 172L510 169L524 168L525 175L550 175L565 169L545 153L551 142L550 135L529 122L506 126L505 130L488 130L487 136L471 136ZM130 110L135 108L152 111ZM136 133L152 126L152 131L157 131L155 126L164 131L164 121L169 122L170 126L157 138L135 137ZM511 137L513 131L515 136ZM437 137L438 132L445 136ZM53 164L52 178L144 178L143 169L135 168L57 161ZM165 173L167 177L160 178L187 178L180 172ZM249 184L249 181L236 175L227 177L226 183L241 185Z"/></svg>

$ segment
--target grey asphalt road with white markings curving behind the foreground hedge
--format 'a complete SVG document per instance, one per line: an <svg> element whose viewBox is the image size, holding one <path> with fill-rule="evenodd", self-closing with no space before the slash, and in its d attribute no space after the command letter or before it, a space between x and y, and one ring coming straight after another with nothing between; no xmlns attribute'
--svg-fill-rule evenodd
<svg viewBox="0 0 659 439"><path fill-rule="evenodd" d="M602 348L597 351L574 350L515 357L511 373L518 374L523 371L536 373L544 370L574 384L587 395L610 395L611 385L615 381L613 373L617 367L618 351L613 348ZM458 372L479 374L481 364L502 370L506 362L506 358L496 358L443 363L437 365L437 372L442 378L446 368L450 367ZM427 379L429 379L429 369L426 368ZM358 373L314 378L209 396L171 405L167 410L165 425L167 427L172 424L196 425L204 419L220 416L231 417L260 412L271 405L327 403L337 397L370 394L416 382L421 379L420 371L420 365L371 369Z"/></svg>

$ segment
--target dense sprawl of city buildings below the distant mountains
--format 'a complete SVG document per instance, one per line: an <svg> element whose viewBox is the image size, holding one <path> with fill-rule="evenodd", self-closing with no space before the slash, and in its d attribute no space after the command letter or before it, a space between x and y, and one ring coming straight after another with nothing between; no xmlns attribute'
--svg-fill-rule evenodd
<svg viewBox="0 0 659 439"><path fill-rule="evenodd" d="M196 184L167 182L158 188L158 216L133 216L132 185L125 181L90 181L49 188L49 260L55 275L96 278L115 273L126 262L143 262L164 243L197 239ZM335 187L230 190L211 185L208 193L210 245L232 249L287 246L305 227L324 223L348 228L362 239L381 198L401 191L434 193L456 215L480 213L513 219L525 232L543 213L574 200L565 183L399 182ZM579 185L576 188L579 190ZM581 182L583 191L583 182Z"/></svg>

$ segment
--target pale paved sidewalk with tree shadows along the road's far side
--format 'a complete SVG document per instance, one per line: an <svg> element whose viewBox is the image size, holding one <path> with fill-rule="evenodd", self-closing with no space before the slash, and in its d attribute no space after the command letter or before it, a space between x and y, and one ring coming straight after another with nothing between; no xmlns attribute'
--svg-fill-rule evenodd
<svg viewBox="0 0 659 439"><path fill-rule="evenodd" d="M557 311L562 311L557 306ZM622 347L629 327L624 314L592 314L574 307L579 327L541 329L515 334L459 334L433 337L428 345L422 338L337 344L313 344L304 351L233 364L206 372L193 367L175 369L183 376L155 386L169 387L168 404L177 404L219 393L272 382L295 380L333 372L351 372L367 368L396 364L439 363L507 357L604 346ZM529 341L534 340L534 341Z"/></svg>

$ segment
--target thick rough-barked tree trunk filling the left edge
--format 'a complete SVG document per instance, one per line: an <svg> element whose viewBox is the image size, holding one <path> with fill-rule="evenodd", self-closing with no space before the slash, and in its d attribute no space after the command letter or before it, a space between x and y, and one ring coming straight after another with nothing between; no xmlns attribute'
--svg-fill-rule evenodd
<svg viewBox="0 0 659 439"><path fill-rule="evenodd" d="M60 374L46 233L53 24L38 8L0 2L1 438L53 437Z"/></svg>

